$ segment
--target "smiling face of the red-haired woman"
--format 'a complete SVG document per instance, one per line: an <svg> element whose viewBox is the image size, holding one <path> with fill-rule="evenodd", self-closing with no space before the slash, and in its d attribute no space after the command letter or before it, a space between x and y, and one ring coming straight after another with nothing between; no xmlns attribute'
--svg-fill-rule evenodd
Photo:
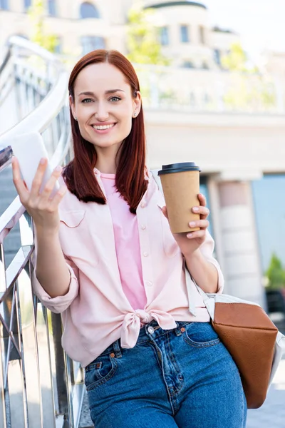
<svg viewBox="0 0 285 428"><path fill-rule="evenodd" d="M115 146L117 151L129 135L132 117L138 116L141 105L140 93L133 98L123 73L109 63L83 68L70 102L81 136L97 149Z"/></svg>

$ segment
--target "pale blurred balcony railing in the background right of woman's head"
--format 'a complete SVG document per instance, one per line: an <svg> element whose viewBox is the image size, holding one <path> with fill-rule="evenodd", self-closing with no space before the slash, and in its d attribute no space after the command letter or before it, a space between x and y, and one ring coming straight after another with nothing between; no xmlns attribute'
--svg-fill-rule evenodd
<svg viewBox="0 0 285 428"><path fill-rule="evenodd" d="M134 64L144 106L187 113L285 113L285 80L266 73Z"/></svg>

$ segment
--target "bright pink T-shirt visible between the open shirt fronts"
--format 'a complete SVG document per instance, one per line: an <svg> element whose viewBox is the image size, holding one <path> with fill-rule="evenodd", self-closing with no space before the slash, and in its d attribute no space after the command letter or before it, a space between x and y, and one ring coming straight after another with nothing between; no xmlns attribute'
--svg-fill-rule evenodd
<svg viewBox="0 0 285 428"><path fill-rule="evenodd" d="M142 280L137 216L130 213L128 203L116 191L115 174L101 173L100 176L113 220L115 249L123 292L135 310L143 309L147 297Z"/></svg>

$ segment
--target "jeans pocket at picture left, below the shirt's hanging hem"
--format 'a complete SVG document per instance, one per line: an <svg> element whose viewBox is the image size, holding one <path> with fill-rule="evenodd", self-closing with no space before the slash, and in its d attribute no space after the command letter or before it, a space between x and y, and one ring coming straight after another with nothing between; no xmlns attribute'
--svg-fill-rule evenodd
<svg viewBox="0 0 285 428"><path fill-rule="evenodd" d="M86 390L91 391L101 384L108 382L113 377L117 369L117 361L115 357L103 355L90 363L85 369Z"/></svg>

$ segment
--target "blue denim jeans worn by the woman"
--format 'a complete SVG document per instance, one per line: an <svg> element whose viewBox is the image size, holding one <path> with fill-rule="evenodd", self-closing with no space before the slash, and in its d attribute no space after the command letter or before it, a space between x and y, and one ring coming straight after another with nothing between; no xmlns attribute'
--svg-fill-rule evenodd
<svg viewBox="0 0 285 428"><path fill-rule="evenodd" d="M237 366L209 322L155 321L133 349L116 341L86 367L95 428L244 428Z"/></svg>

